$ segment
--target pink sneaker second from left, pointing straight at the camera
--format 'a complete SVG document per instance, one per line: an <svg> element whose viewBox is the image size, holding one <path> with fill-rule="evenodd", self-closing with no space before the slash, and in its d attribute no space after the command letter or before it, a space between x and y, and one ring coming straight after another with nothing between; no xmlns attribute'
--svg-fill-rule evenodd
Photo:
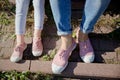
<svg viewBox="0 0 120 80"><path fill-rule="evenodd" d="M33 39L32 53L34 56L41 56L43 52L43 45L41 39Z"/></svg>

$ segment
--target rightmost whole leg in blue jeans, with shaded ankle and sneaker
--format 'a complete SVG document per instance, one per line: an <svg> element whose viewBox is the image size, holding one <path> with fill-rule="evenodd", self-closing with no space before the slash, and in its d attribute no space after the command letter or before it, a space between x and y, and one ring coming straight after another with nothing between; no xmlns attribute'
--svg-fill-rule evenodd
<svg viewBox="0 0 120 80"><path fill-rule="evenodd" d="M93 30L95 23L105 11L109 2L110 0L86 0L79 32L80 56L86 63L93 62L94 60L94 52L88 38L88 33Z"/></svg>

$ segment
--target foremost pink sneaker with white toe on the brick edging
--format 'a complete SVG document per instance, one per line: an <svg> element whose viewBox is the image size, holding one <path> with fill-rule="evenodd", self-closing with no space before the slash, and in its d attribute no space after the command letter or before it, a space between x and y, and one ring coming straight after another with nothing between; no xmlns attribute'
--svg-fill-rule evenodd
<svg viewBox="0 0 120 80"><path fill-rule="evenodd" d="M52 62L52 71L55 74L60 74L68 65L68 58L75 49L76 43L73 41L72 45L67 49L60 49L55 55Z"/></svg>

